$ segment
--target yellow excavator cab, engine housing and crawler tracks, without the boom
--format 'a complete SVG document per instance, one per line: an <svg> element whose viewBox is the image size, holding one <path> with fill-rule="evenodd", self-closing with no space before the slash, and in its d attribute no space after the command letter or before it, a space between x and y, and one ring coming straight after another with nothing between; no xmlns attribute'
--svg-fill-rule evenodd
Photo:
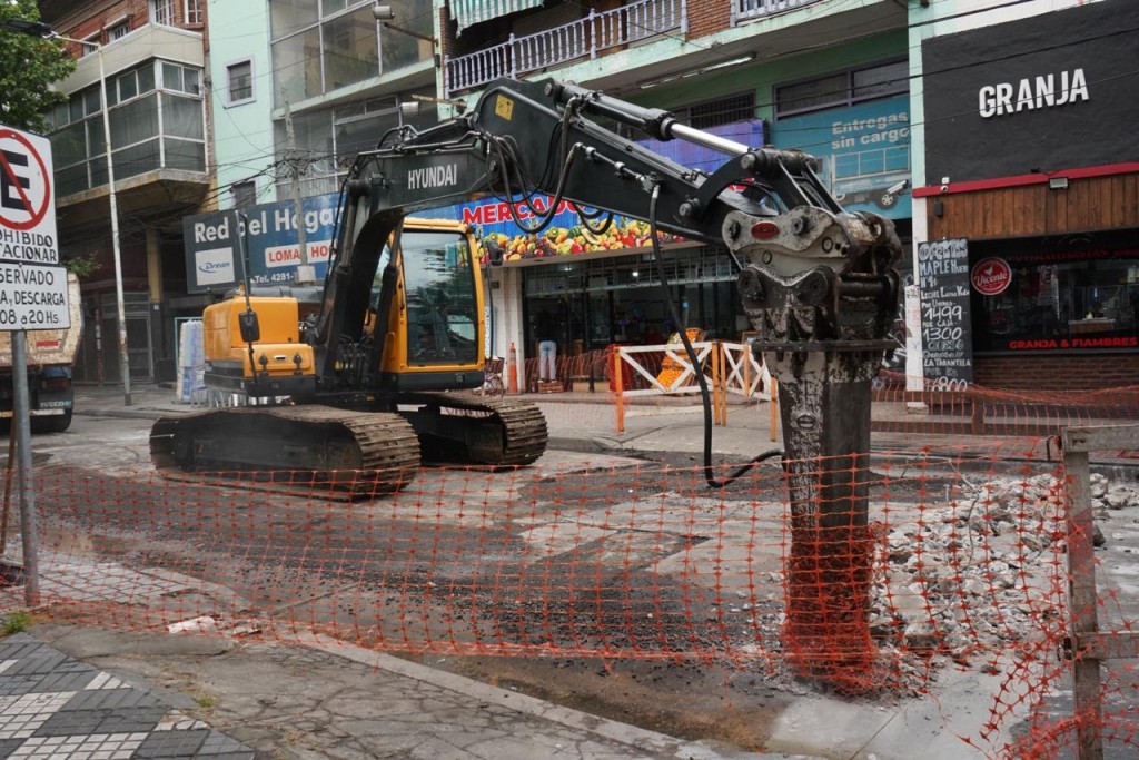
<svg viewBox="0 0 1139 760"><path fill-rule="evenodd" d="M402 488L421 458L499 467L538 459L547 428L535 404L443 392L483 383L475 236L458 222L409 219L391 242L325 376L312 337L318 289L241 287L207 307L206 386L259 406L157 420L159 472L196 480L257 471L277 490L355 498Z"/></svg>

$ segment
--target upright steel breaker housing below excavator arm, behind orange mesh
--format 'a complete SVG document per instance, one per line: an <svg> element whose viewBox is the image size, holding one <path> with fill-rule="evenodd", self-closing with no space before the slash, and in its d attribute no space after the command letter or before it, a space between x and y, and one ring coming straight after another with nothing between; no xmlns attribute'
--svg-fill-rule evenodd
<svg viewBox="0 0 1139 760"><path fill-rule="evenodd" d="M870 379L880 361L882 350L836 350L771 362L784 448L792 452L785 461L792 508L787 630L796 645L790 659L800 676L844 689L858 689L875 654L867 525Z"/></svg>

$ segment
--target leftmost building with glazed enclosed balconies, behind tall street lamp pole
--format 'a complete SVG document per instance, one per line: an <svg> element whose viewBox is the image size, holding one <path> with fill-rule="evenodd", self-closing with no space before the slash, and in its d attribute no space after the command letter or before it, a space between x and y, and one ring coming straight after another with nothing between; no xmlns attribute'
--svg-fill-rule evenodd
<svg viewBox="0 0 1139 760"><path fill-rule="evenodd" d="M82 284L85 329L75 378L122 379L110 172L131 379L172 377L169 296L185 291L181 218L208 203L212 189L204 0L39 5L77 60L58 83L69 101L48 116L62 258L99 264Z"/></svg>

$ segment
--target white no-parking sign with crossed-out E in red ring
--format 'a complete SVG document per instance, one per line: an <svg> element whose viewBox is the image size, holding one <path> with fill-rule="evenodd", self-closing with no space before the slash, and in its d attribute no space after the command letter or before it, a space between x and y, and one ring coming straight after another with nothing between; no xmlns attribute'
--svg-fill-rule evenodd
<svg viewBox="0 0 1139 760"><path fill-rule="evenodd" d="M59 263L51 144L0 125L0 261Z"/></svg>

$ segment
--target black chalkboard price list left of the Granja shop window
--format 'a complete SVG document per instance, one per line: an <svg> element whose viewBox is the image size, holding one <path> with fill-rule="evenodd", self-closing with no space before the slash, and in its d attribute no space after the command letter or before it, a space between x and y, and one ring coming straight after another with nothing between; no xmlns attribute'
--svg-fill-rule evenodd
<svg viewBox="0 0 1139 760"><path fill-rule="evenodd" d="M918 287L926 385L934 391L964 391L973 382L968 243L919 243Z"/></svg>

